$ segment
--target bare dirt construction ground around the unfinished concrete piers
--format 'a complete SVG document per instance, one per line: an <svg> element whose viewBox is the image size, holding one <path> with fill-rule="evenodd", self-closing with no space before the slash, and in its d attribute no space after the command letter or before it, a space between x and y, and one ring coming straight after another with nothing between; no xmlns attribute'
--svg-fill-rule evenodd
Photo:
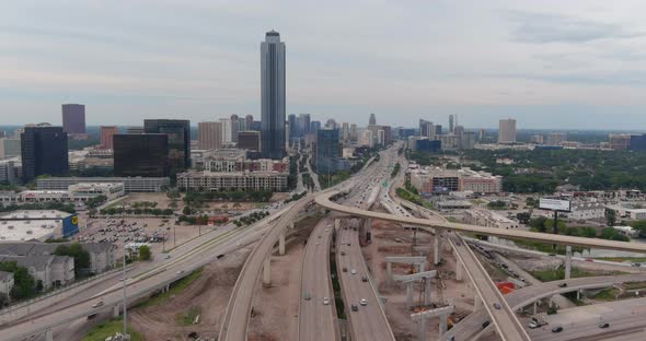
<svg viewBox="0 0 646 341"><path fill-rule="evenodd" d="M387 298L385 314L393 329L396 340L417 340L417 325L411 320L413 311L406 308L406 289L404 285L394 284L392 287L385 283L385 257L412 256L413 234L403 231L401 226L392 223L373 221L372 244L364 248L364 257L372 272L379 292ZM399 240L401 243L395 242ZM417 245L432 245L434 236L428 233L417 233ZM473 290L468 283L455 281L455 259L445 243L441 250L443 262L438 268L432 266L432 249L428 252L427 261L430 270L437 269L442 280L434 280L431 290L432 303L452 301L455 305L455 317L463 317L473 308ZM416 252L415 256L420 256ZM393 273L404 274L408 268L402 264L393 264ZM414 286L414 302L419 302L420 286ZM438 333L437 319L430 320L427 329L427 339L436 340Z"/></svg>

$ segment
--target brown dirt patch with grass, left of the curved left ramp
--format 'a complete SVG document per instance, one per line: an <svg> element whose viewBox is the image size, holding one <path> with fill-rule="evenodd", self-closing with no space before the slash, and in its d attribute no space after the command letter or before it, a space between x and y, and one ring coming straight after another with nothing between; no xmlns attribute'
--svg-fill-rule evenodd
<svg viewBox="0 0 646 341"><path fill-rule="evenodd" d="M159 306L132 309L129 315L132 327L146 340L152 341L192 340L187 337L192 331L200 337L216 338L231 291L250 251L251 248L246 248L232 252L224 260L205 267L199 279ZM199 324L183 326L177 321L178 316L196 308L201 310Z"/></svg>

